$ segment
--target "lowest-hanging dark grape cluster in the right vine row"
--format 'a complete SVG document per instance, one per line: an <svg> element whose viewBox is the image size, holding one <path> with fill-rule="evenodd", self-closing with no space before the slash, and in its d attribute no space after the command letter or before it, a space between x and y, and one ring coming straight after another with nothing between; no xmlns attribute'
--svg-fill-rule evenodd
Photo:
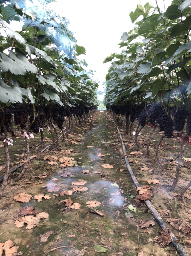
<svg viewBox="0 0 191 256"><path fill-rule="evenodd" d="M159 128L160 128L160 131L164 131L164 134L165 136L167 136L167 138L172 137L172 133L174 130L173 126L174 126L174 122L172 121L169 115L164 114L160 117Z"/></svg>

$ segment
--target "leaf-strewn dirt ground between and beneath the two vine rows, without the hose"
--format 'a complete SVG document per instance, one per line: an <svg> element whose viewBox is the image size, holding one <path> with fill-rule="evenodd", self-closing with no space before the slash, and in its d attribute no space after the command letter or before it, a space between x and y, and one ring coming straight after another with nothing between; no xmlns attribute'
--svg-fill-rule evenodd
<svg viewBox="0 0 191 256"><path fill-rule="evenodd" d="M125 134L125 127L118 127L132 170L139 184L145 186L144 192L136 191L129 176L114 123L105 112L96 111L64 142L60 139L57 148L43 152L39 161L31 160L22 180L14 181L22 168L9 175L0 199L0 255L6 246L7 252L12 250L18 252L17 255L176 254L140 195L148 191L151 202L166 223L175 218L182 220L174 224L175 228L188 223L190 191L180 201L175 191L166 189L175 176L181 142L178 138L163 140L159 155L164 161L165 157L168 159L165 172L161 174L155 156L161 132L156 130L153 134L148 159L145 154L151 128L141 130L137 150L133 138L130 140ZM136 130L136 126L133 128ZM50 144L51 135L44 132L45 147ZM36 154L39 140L35 135L29 142L30 157ZM1 165L5 163L3 150L1 147ZM10 169L26 159L22 135L15 140L12 150L9 148ZM186 146L184 157L189 157L190 153L190 146ZM186 162L181 168L177 193L185 186L183 182L189 182L189 169L190 164ZM0 176L3 174L1 170ZM190 231L167 225L191 255Z"/></svg>

